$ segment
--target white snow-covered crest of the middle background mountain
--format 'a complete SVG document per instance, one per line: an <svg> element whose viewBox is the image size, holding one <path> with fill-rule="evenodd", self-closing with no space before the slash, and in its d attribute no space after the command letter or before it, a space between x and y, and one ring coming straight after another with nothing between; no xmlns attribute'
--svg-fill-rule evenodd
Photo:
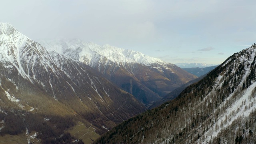
<svg viewBox="0 0 256 144"><path fill-rule="evenodd" d="M125 50L108 44L100 46L92 42L83 42L82 40L51 40L39 42L47 49L55 50L75 60L80 60L92 67L96 63L104 63L103 60L106 59L118 65L124 65L126 63L139 63L146 66L154 63L161 65L167 64L158 58L152 58L140 52ZM78 55L79 58L76 57Z"/></svg>

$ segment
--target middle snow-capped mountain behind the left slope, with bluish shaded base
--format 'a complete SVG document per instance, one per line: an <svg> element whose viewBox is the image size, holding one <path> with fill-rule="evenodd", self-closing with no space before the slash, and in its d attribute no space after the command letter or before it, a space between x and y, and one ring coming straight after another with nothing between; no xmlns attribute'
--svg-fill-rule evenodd
<svg viewBox="0 0 256 144"><path fill-rule="evenodd" d="M106 78L144 104L159 100L196 76L158 58L133 50L81 40L39 41L74 60L79 60L104 74Z"/></svg>

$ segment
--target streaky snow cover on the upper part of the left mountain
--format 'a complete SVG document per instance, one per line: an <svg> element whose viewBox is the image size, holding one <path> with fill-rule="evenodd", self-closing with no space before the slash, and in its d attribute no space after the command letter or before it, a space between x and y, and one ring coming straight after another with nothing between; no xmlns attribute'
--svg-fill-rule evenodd
<svg viewBox="0 0 256 144"><path fill-rule="evenodd" d="M49 50L42 47L39 43L30 40L11 24L0 23L0 62L8 69L10 73L18 71L18 75L28 79L31 83L38 83L43 88L47 89L46 85L50 85L54 99L56 96L53 90L53 81L50 75L55 75L59 78L60 73L64 73L72 82L70 72L63 69L63 64L76 63L70 61L66 56L59 54L55 50ZM80 71L80 69L76 69ZM84 70L84 69L81 69ZM42 77L42 71L47 72L48 76ZM81 74L81 73L79 73ZM46 79L47 82L45 81ZM15 82L11 81L14 85ZM72 82L74 84L74 82ZM74 93L73 84L68 83ZM73 86L72 86L73 85ZM6 92L9 100L18 102L13 96ZM57 99L56 99L57 100Z"/></svg>

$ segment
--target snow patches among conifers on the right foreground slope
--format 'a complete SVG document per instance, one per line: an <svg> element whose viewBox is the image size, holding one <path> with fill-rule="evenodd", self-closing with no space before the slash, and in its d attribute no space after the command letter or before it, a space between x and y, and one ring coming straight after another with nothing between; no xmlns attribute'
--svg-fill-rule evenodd
<svg viewBox="0 0 256 144"><path fill-rule="evenodd" d="M245 50L244 50L245 51ZM252 63L254 62L254 58L256 57L256 49L255 47L247 48L246 51L248 52L248 56L242 55L239 59L236 60L236 62L233 62L233 67L229 67L231 69L231 74L229 76L236 76L236 72L238 70L238 66L240 64L244 65L244 75L242 77L242 80L238 84L238 88L232 92L228 98L226 98L220 106L216 110L214 110L214 114L218 114L222 109L224 109L224 113L221 116L218 116L218 119L214 123L212 127L209 128L204 133L205 140L203 143L208 143L210 140L214 137L217 137L218 134L222 130L225 130L230 126L235 120L238 118L246 118L248 117L254 110L256 110L256 97L254 94L254 90L256 88L256 82L253 82L246 90L240 92L239 88L243 87L243 84L246 83L246 78L248 78L251 70L253 70ZM238 53L239 54L239 53ZM238 54L236 54L237 57ZM232 59L227 60L222 67L230 64L232 62ZM235 63L235 64L234 64ZM224 75L224 74L223 74ZM204 98L200 104L205 103L206 101L212 102L212 94L214 94L214 90L221 89L223 87L223 83L225 81L225 76L220 75L216 79L214 89ZM230 86L233 84L230 83ZM239 94L238 94L239 93ZM238 94L238 96L237 96ZM198 140L199 142L199 140Z"/></svg>

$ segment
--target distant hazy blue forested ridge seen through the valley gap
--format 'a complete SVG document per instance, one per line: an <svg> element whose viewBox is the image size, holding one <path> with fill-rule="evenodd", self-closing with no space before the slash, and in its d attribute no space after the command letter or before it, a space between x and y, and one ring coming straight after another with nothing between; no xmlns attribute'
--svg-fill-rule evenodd
<svg viewBox="0 0 256 144"><path fill-rule="evenodd" d="M183 70L186 70L190 74L194 74L195 76L200 77L204 74L207 74L208 72L210 72L211 70L213 70L216 67L217 66L210 66L210 67L206 67L206 68L183 68Z"/></svg>

